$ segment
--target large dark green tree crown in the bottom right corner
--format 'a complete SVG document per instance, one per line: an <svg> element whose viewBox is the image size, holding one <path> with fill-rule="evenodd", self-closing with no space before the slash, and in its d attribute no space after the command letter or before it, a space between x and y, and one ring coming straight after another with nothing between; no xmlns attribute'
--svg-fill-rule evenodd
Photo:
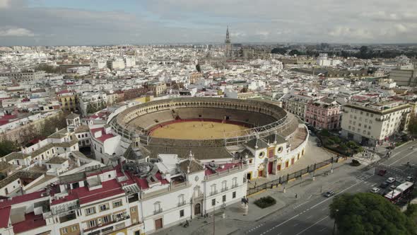
<svg viewBox="0 0 417 235"><path fill-rule="evenodd" d="M397 206L373 193L343 194L330 205L339 234L416 234L416 225Z"/></svg>

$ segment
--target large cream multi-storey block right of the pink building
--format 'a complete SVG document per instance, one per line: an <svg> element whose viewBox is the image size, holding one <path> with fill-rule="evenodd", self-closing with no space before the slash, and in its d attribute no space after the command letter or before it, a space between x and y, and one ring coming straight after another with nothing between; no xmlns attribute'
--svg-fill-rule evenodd
<svg viewBox="0 0 417 235"><path fill-rule="evenodd" d="M341 135L356 142L375 144L406 130L411 105L397 101L348 103L343 106Z"/></svg>

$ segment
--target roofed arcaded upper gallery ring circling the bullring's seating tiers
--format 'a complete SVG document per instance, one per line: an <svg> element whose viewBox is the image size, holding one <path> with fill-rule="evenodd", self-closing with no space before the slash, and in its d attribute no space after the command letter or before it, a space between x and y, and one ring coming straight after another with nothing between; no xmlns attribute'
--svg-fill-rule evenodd
<svg viewBox="0 0 417 235"><path fill-rule="evenodd" d="M129 126L133 120L146 116L151 113L162 112L166 110L177 110L181 108L210 108L211 110L228 109L228 110L242 110L248 113L262 113L269 117L273 117L275 122L260 127L254 127L247 130L245 134L227 132L223 139L213 140L192 140L182 139L181 141L174 141L173 139L163 139L150 137L146 133L146 128L137 128ZM196 113L196 118L198 114ZM163 122L161 122L163 123ZM276 103L257 100L240 100L233 98L172 98L160 101L151 101L135 105L127 108L122 113L119 113L110 121L113 132L121 135L126 139L134 142L141 142L143 144L172 144L185 146L229 146L235 144L242 144L255 137L265 137L269 134L278 133L282 137L290 137L298 128L297 118L287 113L286 110L276 105ZM169 140L169 141L168 141Z"/></svg>

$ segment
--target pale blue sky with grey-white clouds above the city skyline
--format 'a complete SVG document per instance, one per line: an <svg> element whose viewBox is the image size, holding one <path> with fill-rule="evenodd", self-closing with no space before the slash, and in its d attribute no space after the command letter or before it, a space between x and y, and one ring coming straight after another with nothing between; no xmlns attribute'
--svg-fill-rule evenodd
<svg viewBox="0 0 417 235"><path fill-rule="evenodd" d="M417 42L416 0L0 0L0 45Z"/></svg>

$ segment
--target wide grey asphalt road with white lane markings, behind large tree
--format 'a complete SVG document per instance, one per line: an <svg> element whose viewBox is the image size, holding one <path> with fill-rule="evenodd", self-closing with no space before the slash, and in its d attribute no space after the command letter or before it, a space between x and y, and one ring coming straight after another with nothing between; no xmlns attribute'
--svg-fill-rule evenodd
<svg viewBox="0 0 417 235"><path fill-rule="evenodd" d="M415 149L409 149L416 146ZM324 188L334 190L336 195L341 193L367 192L373 187L377 187L388 177L406 178L413 176L416 168L406 165L417 163L417 142L404 144L392 151L389 159L382 159L381 164L376 168L386 168L385 176L375 175L375 168L369 171L335 171L331 176L327 176ZM320 179L315 181L317 187L321 188ZM332 183L337 182L337 183ZM295 186L298 187L298 186ZM283 212L276 212L260 220L255 224L242 228L245 234L333 234L334 221L329 217L329 205L332 198L324 197L322 194L312 194L309 200L300 201L292 208L286 208Z"/></svg>

